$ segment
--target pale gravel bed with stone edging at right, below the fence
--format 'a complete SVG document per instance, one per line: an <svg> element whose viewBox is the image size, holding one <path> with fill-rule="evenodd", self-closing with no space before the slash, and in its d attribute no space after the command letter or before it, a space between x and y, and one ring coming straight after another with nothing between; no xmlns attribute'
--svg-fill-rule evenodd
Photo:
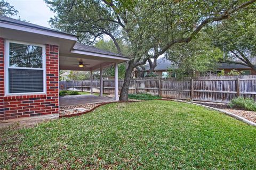
<svg viewBox="0 0 256 170"><path fill-rule="evenodd" d="M222 104L222 103L195 102L195 101L194 101L194 103L205 105L205 106L210 106L210 107L214 107L214 108L218 108L218 109L222 109L223 111L233 113L235 115L244 117L247 120L256 123L256 112L253 112L253 111L245 111L242 108L231 108L231 107L228 106L228 104Z"/></svg>

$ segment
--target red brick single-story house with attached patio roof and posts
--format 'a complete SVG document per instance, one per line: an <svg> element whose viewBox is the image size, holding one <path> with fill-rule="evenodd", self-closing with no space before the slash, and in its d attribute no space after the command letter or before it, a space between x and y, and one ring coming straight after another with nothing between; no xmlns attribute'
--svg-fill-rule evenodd
<svg viewBox="0 0 256 170"><path fill-rule="evenodd" d="M59 70L100 71L102 95L102 69L115 65L118 100L117 64L125 61L75 35L0 16L0 125L59 117Z"/></svg>

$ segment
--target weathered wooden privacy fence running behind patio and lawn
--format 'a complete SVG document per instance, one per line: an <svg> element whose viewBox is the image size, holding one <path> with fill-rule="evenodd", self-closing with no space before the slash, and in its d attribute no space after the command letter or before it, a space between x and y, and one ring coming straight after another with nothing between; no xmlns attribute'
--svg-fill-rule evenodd
<svg viewBox="0 0 256 170"><path fill-rule="evenodd" d="M90 80L60 81L60 90L90 91ZM118 81L119 91L123 80ZM99 92L100 81L93 80L93 92ZM103 80L103 93L114 94L114 80ZM190 99L228 103L236 96L256 99L256 76L201 77L197 79L132 79L129 93L150 93L163 98Z"/></svg>

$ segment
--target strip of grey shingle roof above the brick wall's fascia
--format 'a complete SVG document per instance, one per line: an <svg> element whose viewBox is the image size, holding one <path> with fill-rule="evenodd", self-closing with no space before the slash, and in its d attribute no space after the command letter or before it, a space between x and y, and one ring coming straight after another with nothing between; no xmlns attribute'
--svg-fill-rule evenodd
<svg viewBox="0 0 256 170"><path fill-rule="evenodd" d="M14 24L18 24L18 25L22 25L22 26L26 26L26 27L30 27L30 28L36 28L36 29L52 31L52 32L58 32L58 33L62 33L62 34L66 34L66 35L76 37L75 35L72 35L70 33L54 30L54 29L51 29L51 28L43 27L43 26L40 26L40 25L37 25L37 24L25 22L25 21L16 20L16 19L9 18L9 17L2 16L2 15L0 15L0 22L14 23Z"/></svg>

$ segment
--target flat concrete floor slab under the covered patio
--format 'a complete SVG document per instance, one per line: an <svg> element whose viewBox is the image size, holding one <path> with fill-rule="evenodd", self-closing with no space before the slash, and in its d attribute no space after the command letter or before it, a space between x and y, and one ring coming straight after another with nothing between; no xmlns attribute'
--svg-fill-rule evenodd
<svg viewBox="0 0 256 170"><path fill-rule="evenodd" d="M60 106L71 106L111 101L115 101L115 99L106 96L100 97L96 95L60 96Z"/></svg>

